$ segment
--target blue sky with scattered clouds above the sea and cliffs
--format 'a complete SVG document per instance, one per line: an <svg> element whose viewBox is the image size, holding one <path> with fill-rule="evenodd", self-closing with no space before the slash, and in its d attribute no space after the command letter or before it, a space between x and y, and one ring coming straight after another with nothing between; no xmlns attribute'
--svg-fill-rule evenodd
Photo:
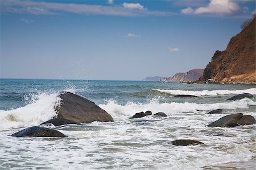
<svg viewBox="0 0 256 170"><path fill-rule="evenodd" d="M1 2L1 78L142 80L205 68L254 0Z"/></svg>

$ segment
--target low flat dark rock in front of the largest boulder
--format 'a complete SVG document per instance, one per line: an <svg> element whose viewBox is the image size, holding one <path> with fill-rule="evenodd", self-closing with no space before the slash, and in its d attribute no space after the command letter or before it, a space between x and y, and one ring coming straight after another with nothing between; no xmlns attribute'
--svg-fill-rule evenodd
<svg viewBox="0 0 256 170"><path fill-rule="evenodd" d="M33 137L67 137L63 133L53 130L51 128L32 126L25 128L21 131L18 131L11 136L15 137L24 137L24 136L33 136Z"/></svg>

